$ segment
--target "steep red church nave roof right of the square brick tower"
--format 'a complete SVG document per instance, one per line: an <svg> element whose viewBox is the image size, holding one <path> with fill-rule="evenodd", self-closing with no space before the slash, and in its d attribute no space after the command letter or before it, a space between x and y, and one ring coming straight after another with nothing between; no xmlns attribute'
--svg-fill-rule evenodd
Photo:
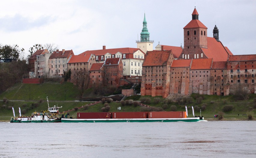
<svg viewBox="0 0 256 158"><path fill-rule="evenodd" d="M208 48L201 48L208 58L213 61L227 61L228 53L221 42L216 41L213 37L207 37Z"/></svg>

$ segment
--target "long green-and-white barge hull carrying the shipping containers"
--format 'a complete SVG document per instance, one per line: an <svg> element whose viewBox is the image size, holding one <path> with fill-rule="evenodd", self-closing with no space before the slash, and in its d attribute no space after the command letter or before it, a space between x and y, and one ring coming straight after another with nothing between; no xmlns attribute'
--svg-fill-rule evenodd
<svg viewBox="0 0 256 158"><path fill-rule="evenodd" d="M62 118L61 122L197 122L204 118L111 118L111 119L75 119Z"/></svg>

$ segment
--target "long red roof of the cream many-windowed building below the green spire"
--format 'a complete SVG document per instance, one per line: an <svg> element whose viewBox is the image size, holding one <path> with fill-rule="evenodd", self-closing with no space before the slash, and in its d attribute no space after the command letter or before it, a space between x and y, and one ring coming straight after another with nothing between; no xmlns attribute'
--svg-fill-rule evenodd
<svg viewBox="0 0 256 158"><path fill-rule="evenodd" d="M95 54L96 56L105 55L106 53L109 54L116 54L120 52L122 54L133 54L134 52L140 50L139 48L113 48L113 49L100 49L100 50L93 50L93 51L85 51L81 54ZM140 50L143 54L145 54L142 50ZM80 55L80 54L79 54Z"/></svg>

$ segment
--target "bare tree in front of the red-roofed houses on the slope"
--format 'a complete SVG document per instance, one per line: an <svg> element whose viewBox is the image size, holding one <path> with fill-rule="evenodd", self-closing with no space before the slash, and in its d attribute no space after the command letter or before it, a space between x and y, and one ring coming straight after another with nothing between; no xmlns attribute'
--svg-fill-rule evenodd
<svg viewBox="0 0 256 158"><path fill-rule="evenodd" d="M84 90L88 88L89 73L85 70L79 71L76 76L76 84L78 86L80 95L83 96Z"/></svg>

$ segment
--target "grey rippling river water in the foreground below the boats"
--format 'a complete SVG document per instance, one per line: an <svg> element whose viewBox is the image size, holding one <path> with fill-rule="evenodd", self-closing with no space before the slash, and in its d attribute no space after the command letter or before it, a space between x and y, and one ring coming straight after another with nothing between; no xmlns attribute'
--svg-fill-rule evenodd
<svg viewBox="0 0 256 158"><path fill-rule="evenodd" d="M256 121L0 123L0 157L256 157Z"/></svg>

